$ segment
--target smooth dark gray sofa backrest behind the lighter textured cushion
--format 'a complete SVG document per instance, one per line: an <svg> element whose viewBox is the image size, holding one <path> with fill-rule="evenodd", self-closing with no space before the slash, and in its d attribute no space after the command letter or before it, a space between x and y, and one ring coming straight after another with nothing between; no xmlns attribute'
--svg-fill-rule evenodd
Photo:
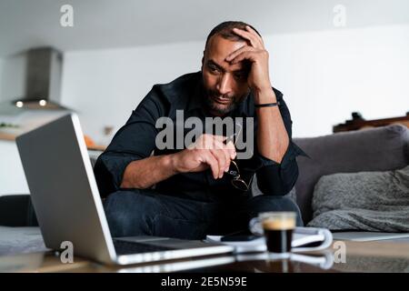
<svg viewBox="0 0 409 291"><path fill-rule="evenodd" d="M314 186L321 176L386 171L409 164L409 129L404 125L294 138L294 143L311 157L297 156L300 175L295 189L305 224L312 219Z"/></svg>

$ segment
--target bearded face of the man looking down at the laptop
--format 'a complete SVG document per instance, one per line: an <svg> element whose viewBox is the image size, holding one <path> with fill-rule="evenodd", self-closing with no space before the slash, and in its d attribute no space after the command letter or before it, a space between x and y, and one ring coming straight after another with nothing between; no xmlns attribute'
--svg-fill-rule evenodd
<svg viewBox="0 0 409 291"><path fill-rule="evenodd" d="M224 39L220 35L212 36L207 43L202 73L205 104L213 115L226 115L249 93L249 65L243 62L231 65L225 61L228 55L244 45L245 42Z"/></svg>

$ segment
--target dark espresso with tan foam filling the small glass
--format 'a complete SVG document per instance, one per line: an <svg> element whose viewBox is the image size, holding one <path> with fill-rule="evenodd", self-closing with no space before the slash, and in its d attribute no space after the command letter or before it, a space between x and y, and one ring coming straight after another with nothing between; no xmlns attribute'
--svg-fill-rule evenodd
<svg viewBox="0 0 409 291"><path fill-rule="evenodd" d="M266 217L263 229L267 250L271 253L288 253L291 251L294 217Z"/></svg>

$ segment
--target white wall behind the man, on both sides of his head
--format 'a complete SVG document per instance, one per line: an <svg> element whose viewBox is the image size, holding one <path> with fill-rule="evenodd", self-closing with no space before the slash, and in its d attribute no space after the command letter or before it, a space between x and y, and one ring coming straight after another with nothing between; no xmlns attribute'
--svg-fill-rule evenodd
<svg viewBox="0 0 409 291"><path fill-rule="evenodd" d="M284 92L294 136L331 134L353 111L365 118L409 109L409 25L266 35L271 79ZM79 111L85 133L103 141L152 85L200 68L204 42L65 54L62 102Z"/></svg>

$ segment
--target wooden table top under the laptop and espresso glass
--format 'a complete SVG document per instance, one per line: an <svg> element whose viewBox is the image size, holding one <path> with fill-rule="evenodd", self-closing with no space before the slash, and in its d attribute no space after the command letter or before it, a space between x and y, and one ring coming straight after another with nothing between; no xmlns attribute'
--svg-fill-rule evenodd
<svg viewBox="0 0 409 291"><path fill-rule="evenodd" d="M0 257L0 272L409 272L409 244L385 241L334 244L324 251L296 254L294 259L276 259L264 253L227 254L136 266L105 266L79 257L75 257L73 264L63 264L53 252L32 253ZM340 261L339 244L345 247L344 262ZM297 257L321 260L326 265L307 264Z"/></svg>

